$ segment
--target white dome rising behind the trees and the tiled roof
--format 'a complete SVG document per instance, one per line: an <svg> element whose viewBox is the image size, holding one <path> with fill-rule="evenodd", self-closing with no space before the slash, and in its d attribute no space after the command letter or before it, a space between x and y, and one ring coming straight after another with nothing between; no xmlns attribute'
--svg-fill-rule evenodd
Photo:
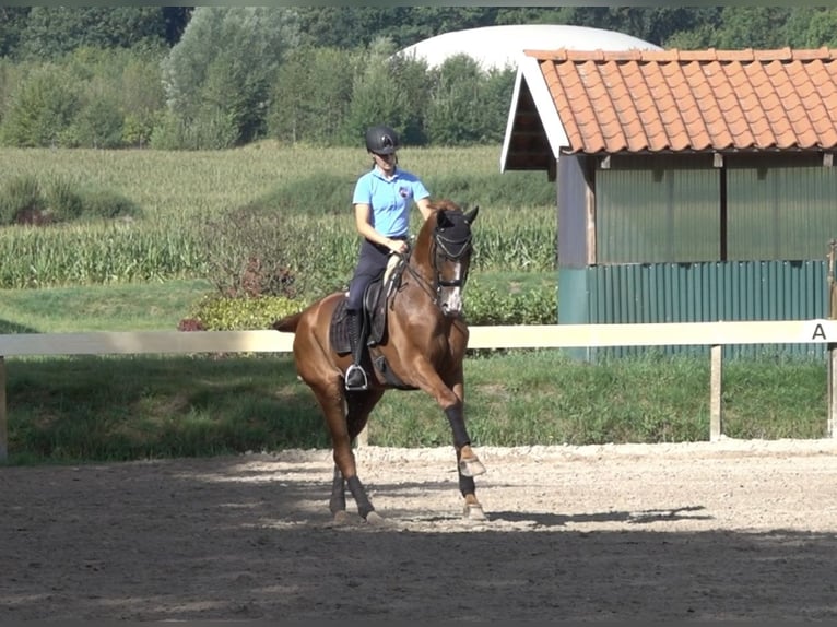
<svg viewBox="0 0 837 627"><path fill-rule="evenodd" d="M516 24L452 31L413 44L399 54L424 59L435 68L449 57L468 55L484 70L516 69L523 50L659 50L643 39L588 26L566 24Z"/></svg>

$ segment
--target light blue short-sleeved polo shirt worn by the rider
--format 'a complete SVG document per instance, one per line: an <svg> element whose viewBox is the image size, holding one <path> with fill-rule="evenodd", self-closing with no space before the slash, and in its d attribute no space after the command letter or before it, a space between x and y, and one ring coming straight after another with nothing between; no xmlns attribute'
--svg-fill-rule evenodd
<svg viewBox="0 0 837 627"><path fill-rule="evenodd" d="M431 196L418 177L396 168L392 179L387 180L378 168L372 168L354 188L352 204L372 208L372 225L385 237L400 237L410 227L410 204Z"/></svg>

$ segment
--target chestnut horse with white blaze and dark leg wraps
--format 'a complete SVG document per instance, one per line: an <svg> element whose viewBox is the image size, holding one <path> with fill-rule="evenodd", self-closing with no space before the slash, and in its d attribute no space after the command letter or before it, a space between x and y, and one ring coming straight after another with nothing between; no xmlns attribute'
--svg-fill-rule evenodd
<svg viewBox="0 0 837 627"><path fill-rule="evenodd" d="M295 333L298 378L314 392L328 426L334 461L329 509L335 521L347 520L346 487L363 520L385 521L358 477L353 445L390 389L423 390L436 400L450 424L463 517L486 520L473 480L485 466L471 447L465 427L462 368L469 336L462 291L473 252L471 225L480 208L464 212L450 200L438 200L432 209L415 244L397 256L391 276L373 284L378 288L377 300L369 292L365 297L365 309L375 312L364 356L369 379L366 390L344 387L351 364L349 347L339 345L344 292L329 294L272 324L276 331ZM384 320L378 333L376 319Z"/></svg>

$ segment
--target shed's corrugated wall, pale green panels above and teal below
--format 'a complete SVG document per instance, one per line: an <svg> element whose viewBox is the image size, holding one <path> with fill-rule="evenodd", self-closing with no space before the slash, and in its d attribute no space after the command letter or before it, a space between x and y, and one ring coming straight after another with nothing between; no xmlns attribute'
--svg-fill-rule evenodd
<svg viewBox="0 0 837 627"><path fill-rule="evenodd" d="M837 167L824 166L822 154L724 155L723 168L709 154L611 155L601 163L591 170L596 263L582 269L558 251L559 322L828 316L825 258L837 238ZM559 194L566 204L558 232L569 227L559 241L576 262L586 237L582 171L559 167L567 193ZM695 350L708 348L688 348ZM729 346L724 353L822 356L824 347Z"/></svg>

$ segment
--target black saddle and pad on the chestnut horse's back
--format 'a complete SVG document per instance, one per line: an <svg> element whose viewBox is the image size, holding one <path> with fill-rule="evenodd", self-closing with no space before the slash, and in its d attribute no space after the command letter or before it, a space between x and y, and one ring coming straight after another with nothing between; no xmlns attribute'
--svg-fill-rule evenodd
<svg viewBox="0 0 837 627"><path fill-rule="evenodd" d="M366 335L367 346L377 346L386 340L387 304L390 296L401 284L401 276L403 275L405 264L406 261L397 255L391 256L387 269L366 287L363 296L361 324L368 329ZM347 298L345 296L340 299L329 326L329 342L331 343L331 348L339 355L352 352L352 344L349 340L349 326L346 323L346 301Z"/></svg>

